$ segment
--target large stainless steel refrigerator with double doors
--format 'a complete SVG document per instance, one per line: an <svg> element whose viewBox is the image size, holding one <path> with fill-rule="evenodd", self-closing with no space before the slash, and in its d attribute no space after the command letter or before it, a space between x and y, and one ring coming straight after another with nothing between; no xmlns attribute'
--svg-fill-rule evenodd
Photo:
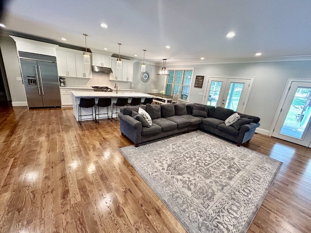
<svg viewBox="0 0 311 233"><path fill-rule="evenodd" d="M60 107L56 57L18 52L28 108Z"/></svg>

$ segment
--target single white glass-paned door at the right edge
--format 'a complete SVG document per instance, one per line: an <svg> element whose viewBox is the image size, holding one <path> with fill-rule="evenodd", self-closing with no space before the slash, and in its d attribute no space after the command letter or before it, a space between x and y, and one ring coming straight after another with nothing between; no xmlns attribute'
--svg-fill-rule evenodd
<svg viewBox="0 0 311 233"><path fill-rule="evenodd" d="M311 81L288 85L272 136L311 148Z"/></svg>

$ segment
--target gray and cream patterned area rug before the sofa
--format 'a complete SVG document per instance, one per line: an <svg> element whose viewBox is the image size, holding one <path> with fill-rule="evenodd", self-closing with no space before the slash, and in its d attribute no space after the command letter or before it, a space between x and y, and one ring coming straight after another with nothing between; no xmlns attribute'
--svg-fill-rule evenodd
<svg viewBox="0 0 311 233"><path fill-rule="evenodd" d="M189 233L243 233L281 163L201 131L120 149Z"/></svg>

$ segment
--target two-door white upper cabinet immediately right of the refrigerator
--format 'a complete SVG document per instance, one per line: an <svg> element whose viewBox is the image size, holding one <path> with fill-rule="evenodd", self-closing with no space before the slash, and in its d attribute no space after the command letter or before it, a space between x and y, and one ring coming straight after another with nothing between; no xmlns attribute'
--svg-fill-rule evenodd
<svg viewBox="0 0 311 233"><path fill-rule="evenodd" d="M76 62L73 52L56 50L57 71L61 77L76 77Z"/></svg>

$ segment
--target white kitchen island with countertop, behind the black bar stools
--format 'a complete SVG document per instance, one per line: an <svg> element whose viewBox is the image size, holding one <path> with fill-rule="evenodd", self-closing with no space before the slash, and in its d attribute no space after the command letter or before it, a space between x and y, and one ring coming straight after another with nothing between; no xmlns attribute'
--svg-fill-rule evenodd
<svg viewBox="0 0 311 233"><path fill-rule="evenodd" d="M117 99L119 97L127 97L128 101L130 102L133 97L140 97L140 98L151 98L153 96L145 93L140 92L101 92L101 91L71 91L72 95L72 108L73 108L73 115L76 117L76 120L78 121L78 109L79 109L79 103L80 98L95 98L95 102L97 103L98 98L111 98L111 102L115 103L117 102ZM112 106L111 106L112 107ZM89 108L82 108L81 109L82 115L86 114L92 114L92 110ZM103 110L101 109L101 113L107 113L106 108ZM109 113L109 117L111 117L111 114ZM82 116L83 118L89 118L89 116Z"/></svg>

